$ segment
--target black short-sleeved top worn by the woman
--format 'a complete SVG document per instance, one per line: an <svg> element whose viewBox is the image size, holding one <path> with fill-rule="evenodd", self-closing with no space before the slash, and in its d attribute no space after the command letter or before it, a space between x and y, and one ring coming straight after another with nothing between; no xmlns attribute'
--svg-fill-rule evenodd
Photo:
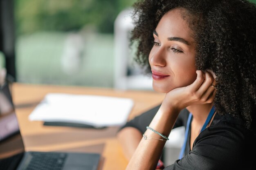
<svg viewBox="0 0 256 170"><path fill-rule="evenodd" d="M128 121L125 127L137 128L141 134L146 131L160 106ZM189 111L183 109L174 128L185 126ZM190 132L185 156L164 170L256 170L256 137L245 128L241 120L230 115L218 115L211 125L203 130L190 149Z"/></svg>

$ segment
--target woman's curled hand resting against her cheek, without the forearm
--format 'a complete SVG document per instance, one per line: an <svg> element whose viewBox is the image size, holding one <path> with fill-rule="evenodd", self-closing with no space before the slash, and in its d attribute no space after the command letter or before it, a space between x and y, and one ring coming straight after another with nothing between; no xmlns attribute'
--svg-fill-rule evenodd
<svg viewBox="0 0 256 170"><path fill-rule="evenodd" d="M197 78L191 85L166 93L162 106L182 110L190 105L212 103L216 94L216 75L210 70L205 73L197 70L196 73Z"/></svg>

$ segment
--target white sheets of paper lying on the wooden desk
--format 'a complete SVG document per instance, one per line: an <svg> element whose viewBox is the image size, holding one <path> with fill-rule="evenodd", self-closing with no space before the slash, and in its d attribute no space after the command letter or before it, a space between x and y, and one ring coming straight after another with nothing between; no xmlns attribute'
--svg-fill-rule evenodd
<svg viewBox="0 0 256 170"><path fill-rule="evenodd" d="M129 98L49 93L29 120L120 126L126 123L133 104Z"/></svg>

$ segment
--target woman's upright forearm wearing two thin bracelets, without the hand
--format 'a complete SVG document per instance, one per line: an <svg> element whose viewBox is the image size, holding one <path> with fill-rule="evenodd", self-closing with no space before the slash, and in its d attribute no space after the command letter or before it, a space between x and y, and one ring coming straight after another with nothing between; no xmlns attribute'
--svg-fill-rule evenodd
<svg viewBox="0 0 256 170"><path fill-rule="evenodd" d="M164 108L161 106L149 126L163 135L168 136L179 112L179 110L175 110L171 107ZM146 130L144 135L150 138L163 139L149 129ZM141 139L126 170L155 170L165 142L166 141L156 139Z"/></svg>

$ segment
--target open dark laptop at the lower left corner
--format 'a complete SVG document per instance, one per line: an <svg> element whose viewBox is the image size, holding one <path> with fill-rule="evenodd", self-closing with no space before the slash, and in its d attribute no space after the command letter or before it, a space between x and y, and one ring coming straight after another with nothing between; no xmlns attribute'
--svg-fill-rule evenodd
<svg viewBox="0 0 256 170"><path fill-rule="evenodd" d="M0 88L0 169L1 170L97 170L100 154L78 152L27 152L9 85Z"/></svg>

